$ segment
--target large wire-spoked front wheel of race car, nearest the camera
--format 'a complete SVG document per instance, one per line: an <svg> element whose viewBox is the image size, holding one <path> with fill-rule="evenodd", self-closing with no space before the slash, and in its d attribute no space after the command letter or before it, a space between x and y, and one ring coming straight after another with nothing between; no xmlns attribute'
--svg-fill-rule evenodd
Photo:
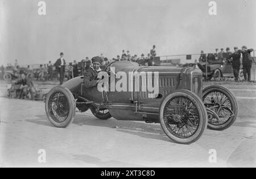
<svg viewBox="0 0 256 179"><path fill-rule="evenodd" d="M184 99L183 103L180 103L181 99ZM189 110L188 105L194 107L194 110L192 111L191 107ZM189 120L186 119L187 117ZM159 109L159 120L160 125L168 138L176 143L191 144L198 140L205 128L207 128L207 110L201 99L192 91L184 89L176 90L164 97ZM189 131L189 127L193 124L192 121L196 125L192 126L196 127L195 131ZM188 127L185 123L188 124ZM180 128L181 126L183 131L187 128L187 133L190 134L191 132L191 135L182 136L182 134L177 134L175 129Z"/></svg>

